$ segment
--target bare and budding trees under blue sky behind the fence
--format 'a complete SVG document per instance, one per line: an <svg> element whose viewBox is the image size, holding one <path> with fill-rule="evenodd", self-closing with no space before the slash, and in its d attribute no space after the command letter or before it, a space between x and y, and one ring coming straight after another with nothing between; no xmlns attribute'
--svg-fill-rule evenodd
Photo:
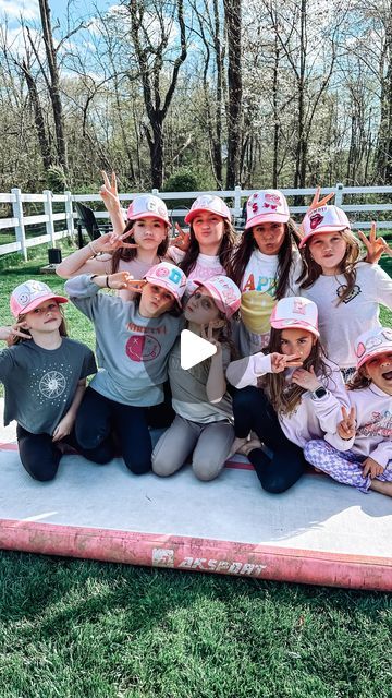
<svg viewBox="0 0 392 698"><path fill-rule="evenodd" d="M388 0L0 0L0 191L392 184Z"/></svg>

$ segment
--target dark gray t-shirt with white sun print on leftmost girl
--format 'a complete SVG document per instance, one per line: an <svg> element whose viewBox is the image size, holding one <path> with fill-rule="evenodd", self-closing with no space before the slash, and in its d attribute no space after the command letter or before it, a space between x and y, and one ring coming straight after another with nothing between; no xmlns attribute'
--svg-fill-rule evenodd
<svg viewBox="0 0 392 698"><path fill-rule="evenodd" d="M93 351L68 337L58 349L42 349L33 339L3 349L5 426L16 420L32 434L52 434L71 407L78 381L96 371Z"/></svg>

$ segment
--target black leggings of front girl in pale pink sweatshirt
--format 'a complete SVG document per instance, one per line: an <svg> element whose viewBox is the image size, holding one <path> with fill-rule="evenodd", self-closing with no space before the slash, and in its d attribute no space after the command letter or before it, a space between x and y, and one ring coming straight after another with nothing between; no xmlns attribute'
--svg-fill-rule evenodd
<svg viewBox="0 0 392 698"><path fill-rule="evenodd" d="M289 490L299 480L306 461L302 448L284 435L266 394L254 386L235 390L233 412L235 435L245 438L254 431L272 452L271 458L261 448L248 454L262 489L274 494Z"/></svg>

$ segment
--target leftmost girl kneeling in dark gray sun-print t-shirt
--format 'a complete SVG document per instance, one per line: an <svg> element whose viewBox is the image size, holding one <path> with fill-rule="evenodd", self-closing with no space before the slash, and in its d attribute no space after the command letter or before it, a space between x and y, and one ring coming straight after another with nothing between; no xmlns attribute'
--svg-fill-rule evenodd
<svg viewBox="0 0 392 698"><path fill-rule="evenodd" d="M54 478L64 445L75 445L73 425L86 376L97 371L88 347L66 336L60 309L66 302L46 284L25 281L11 294L16 323L0 327L0 339L9 344L0 352L4 424L16 420L22 464L42 482ZM105 445L82 454L97 462L111 457Z"/></svg>

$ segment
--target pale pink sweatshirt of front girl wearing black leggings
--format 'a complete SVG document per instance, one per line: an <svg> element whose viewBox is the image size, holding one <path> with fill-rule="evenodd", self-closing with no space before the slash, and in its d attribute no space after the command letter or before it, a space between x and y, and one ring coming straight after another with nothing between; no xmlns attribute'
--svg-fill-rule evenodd
<svg viewBox="0 0 392 698"><path fill-rule="evenodd" d="M323 438L328 433L330 443L335 446L334 437L336 424L342 420L342 406L348 407L348 394L344 386L342 374L336 364L326 361L330 375L318 376L328 393L321 398L315 398L308 390L304 393L297 408L291 414L278 414L284 434L291 442L303 448L311 438ZM284 372L289 382L294 369ZM228 381L236 388L257 385L257 378L271 373L271 357L261 352L252 357L232 361L226 371ZM339 442L341 440L339 438ZM338 446L335 446L338 448Z"/></svg>

